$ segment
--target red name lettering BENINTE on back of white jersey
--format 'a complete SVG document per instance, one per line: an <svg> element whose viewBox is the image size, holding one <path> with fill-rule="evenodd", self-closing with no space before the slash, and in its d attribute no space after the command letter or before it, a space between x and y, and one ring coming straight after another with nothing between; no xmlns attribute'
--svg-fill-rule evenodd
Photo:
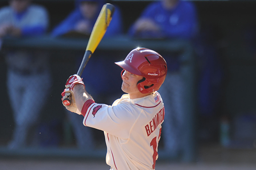
<svg viewBox="0 0 256 170"><path fill-rule="evenodd" d="M164 114L164 108L162 108L159 112L157 112L157 114L155 114L153 119L150 122L148 122L147 125L145 125L145 130L148 136L151 135L151 133L153 133L154 130L157 129L157 126L159 124L163 123Z"/></svg>

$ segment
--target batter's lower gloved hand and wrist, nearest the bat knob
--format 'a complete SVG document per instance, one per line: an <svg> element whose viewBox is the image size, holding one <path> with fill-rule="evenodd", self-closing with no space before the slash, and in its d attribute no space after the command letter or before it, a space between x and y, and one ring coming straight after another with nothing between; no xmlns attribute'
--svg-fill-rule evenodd
<svg viewBox="0 0 256 170"><path fill-rule="evenodd" d="M73 95L73 92L71 91L71 88L65 88L64 91L61 93L62 96L62 104L65 106L65 108L71 112L81 114L81 112L76 107L76 100ZM67 100L68 99L68 100ZM65 102L69 102L69 105Z"/></svg>

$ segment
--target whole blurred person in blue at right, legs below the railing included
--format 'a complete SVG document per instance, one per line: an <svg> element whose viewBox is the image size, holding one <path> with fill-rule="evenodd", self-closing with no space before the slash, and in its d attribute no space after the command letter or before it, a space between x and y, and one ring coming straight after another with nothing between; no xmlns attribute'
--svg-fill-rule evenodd
<svg viewBox="0 0 256 170"><path fill-rule="evenodd" d="M150 3L128 30L131 37L145 39L183 39L192 41L198 32L197 11L192 2L161 0ZM182 154L186 134L184 81L180 74L180 54L161 51L168 73L160 88L165 103L164 149L171 156Z"/></svg>

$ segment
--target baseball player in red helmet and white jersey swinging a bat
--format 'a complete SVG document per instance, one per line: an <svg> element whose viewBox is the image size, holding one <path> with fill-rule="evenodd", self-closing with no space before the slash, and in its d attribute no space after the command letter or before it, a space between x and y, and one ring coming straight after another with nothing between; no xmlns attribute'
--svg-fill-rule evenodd
<svg viewBox="0 0 256 170"><path fill-rule="evenodd" d="M111 170L154 170L165 114L157 90L166 77L166 61L153 50L136 48L115 63L123 68L122 91L127 94L111 106L98 104L75 74L62 93L62 100L71 96L72 105L64 106L83 115L84 126L104 131Z"/></svg>

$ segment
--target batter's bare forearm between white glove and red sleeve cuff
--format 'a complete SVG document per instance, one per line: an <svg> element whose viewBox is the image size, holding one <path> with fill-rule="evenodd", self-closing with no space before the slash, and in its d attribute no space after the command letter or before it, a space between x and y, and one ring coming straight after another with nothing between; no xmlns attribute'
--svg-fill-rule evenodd
<svg viewBox="0 0 256 170"><path fill-rule="evenodd" d="M90 96L90 94L87 93L83 85L80 85L80 84L75 85L73 88L73 93L76 100L76 107L79 109L80 112L83 108L84 103L87 100L89 99L93 100L92 96Z"/></svg>

